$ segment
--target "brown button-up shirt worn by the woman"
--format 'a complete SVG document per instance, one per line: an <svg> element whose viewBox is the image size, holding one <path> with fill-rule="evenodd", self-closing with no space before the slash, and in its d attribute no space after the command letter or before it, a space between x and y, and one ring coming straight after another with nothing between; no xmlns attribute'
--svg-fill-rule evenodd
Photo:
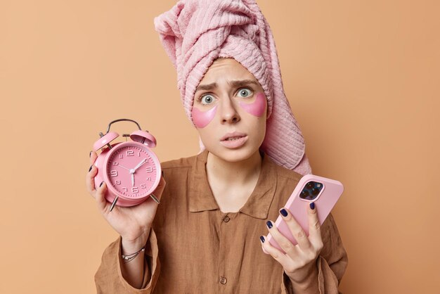
<svg viewBox="0 0 440 294"><path fill-rule="evenodd" d="M293 293L283 267L261 249L302 175L264 155L250 198L239 212L221 212L207 181L208 151L162 162L167 181L145 251L143 286L121 274L121 238L105 249L95 274L97 293ZM319 207L317 207L319 209ZM321 226L321 293L338 293L347 254L330 214Z"/></svg>

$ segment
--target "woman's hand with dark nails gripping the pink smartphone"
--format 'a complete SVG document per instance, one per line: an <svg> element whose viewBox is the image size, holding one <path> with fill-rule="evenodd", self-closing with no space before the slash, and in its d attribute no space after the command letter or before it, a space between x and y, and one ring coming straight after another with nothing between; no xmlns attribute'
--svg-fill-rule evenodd
<svg viewBox="0 0 440 294"><path fill-rule="evenodd" d="M310 207L307 207L307 212L309 215L309 236L306 236L302 227L287 209L283 208L280 210L280 215L292 232L292 235L298 243L297 245L293 245L292 242L285 238L285 236L278 231L276 226L273 225L273 222L268 221L266 223L271 236L285 251L285 254L277 248L274 248L271 243L261 242L266 252L283 266L285 274L287 274L290 281L292 281L294 290L295 288L298 290L318 288L318 267L316 267L316 259L323 249L321 224L319 223L314 203L311 203ZM261 241L263 239L261 239Z"/></svg>

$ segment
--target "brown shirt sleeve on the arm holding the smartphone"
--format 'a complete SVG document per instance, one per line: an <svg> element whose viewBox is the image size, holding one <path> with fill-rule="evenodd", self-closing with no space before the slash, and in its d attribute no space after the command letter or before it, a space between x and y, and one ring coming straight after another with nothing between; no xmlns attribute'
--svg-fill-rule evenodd
<svg viewBox="0 0 440 294"><path fill-rule="evenodd" d="M347 269L348 257L331 213L321 226L321 236L324 246L318 260L316 260L319 293L339 294L338 287L345 269ZM284 271L281 293L293 294L292 284Z"/></svg>

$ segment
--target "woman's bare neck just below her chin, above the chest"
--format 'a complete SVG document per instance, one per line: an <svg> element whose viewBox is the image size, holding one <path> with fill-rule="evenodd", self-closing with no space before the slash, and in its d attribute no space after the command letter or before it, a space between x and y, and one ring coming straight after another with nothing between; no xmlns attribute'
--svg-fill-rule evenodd
<svg viewBox="0 0 440 294"><path fill-rule="evenodd" d="M262 158L257 150L245 160L230 162L208 153L206 170L209 178L228 184L245 184L259 177Z"/></svg>

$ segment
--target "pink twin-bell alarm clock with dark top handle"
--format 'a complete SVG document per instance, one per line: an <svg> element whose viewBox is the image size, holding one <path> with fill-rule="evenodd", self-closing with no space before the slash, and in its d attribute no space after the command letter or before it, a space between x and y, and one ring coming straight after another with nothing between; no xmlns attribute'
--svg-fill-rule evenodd
<svg viewBox="0 0 440 294"><path fill-rule="evenodd" d="M132 141L110 144L119 134L110 132L114 122L129 121L138 126L138 130L129 136ZM95 186L102 181L107 184L105 199L112 203L110 211L115 205L129 207L143 203L148 197L157 203L159 200L153 191L159 184L162 169L157 156L151 148L156 146L155 137L148 131L142 131L134 120L119 119L108 124L105 134L99 133L101 138L93 144L93 151L102 152L96 158L94 165L98 168L95 177Z"/></svg>

